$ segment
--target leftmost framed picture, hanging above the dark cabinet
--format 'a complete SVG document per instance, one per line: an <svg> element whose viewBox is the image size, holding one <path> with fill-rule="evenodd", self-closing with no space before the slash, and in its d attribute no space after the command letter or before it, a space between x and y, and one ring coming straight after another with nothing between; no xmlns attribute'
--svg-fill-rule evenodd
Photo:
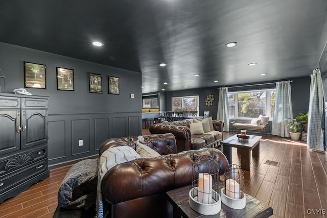
<svg viewBox="0 0 327 218"><path fill-rule="evenodd" d="M43 64L24 61L25 88L46 88L45 68Z"/></svg>

